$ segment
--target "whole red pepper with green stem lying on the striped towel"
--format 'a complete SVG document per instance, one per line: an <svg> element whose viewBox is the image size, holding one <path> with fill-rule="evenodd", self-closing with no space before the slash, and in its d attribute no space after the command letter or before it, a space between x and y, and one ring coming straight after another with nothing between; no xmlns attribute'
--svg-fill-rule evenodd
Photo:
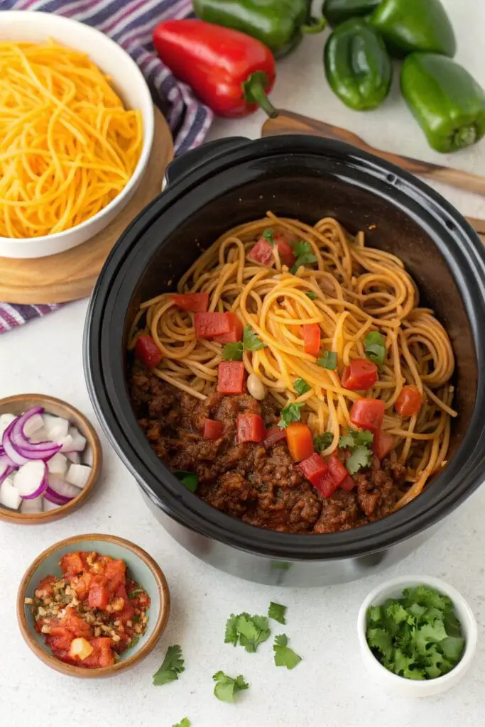
<svg viewBox="0 0 485 727"><path fill-rule="evenodd" d="M275 81L275 62L260 41L203 20L167 20L153 31L153 45L217 116L246 116L259 107L277 116L266 95Z"/></svg>

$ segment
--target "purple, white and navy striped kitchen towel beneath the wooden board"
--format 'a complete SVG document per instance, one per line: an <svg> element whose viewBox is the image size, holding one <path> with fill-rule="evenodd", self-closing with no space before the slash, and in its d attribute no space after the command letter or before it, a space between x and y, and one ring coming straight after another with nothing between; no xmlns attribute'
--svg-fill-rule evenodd
<svg viewBox="0 0 485 727"><path fill-rule="evenodd" d="M175 153L188 151L204 141L212 111L172 76L151 42L153 28L161 20L192 14L191 0L0 0L0 23L2 10L55 12L103 31L131 55L143 72L153 99L172 129ZM0 302L0 333L57 308L60 305Z"/></svg>

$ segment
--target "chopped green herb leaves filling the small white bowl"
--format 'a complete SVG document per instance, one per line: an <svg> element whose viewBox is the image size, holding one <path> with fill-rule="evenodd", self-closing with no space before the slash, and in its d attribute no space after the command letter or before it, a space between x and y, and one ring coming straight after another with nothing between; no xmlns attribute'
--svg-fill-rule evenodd
<svg viewBox="0 0 485 727"><path fill-rule="evenodd" d="M405 588L367 611L366 639L376 659L406 679L434 679L460 662L465 638L448 596L426 585Z"/></svg>

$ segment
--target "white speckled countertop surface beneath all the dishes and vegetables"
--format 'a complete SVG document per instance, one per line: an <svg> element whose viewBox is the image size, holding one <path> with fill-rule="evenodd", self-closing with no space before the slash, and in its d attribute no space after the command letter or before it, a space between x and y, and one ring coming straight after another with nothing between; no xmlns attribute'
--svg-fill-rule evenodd
<svg viewBox="0 0 485 727"><path fill-rule="evenodd" d="M485 86L481 0L446 0L457 31L457 60ZM273 101L281 108L345 126L382 148L483 173L485 141L449 158L430 151L420 129L393 94L381 109L353 113L326 87L322 39L310 36L278 65ZM211 138L257 137L263 117L217 121ZM485 200L456 190L441 191L461 212L485 217ZM87 302L66 306L0 337L0 397L26 391L73 403L95 422L84 385L81 338ZM398 566L348 585L278 589L254 585L215 571L177 545L143 503L132 476L108 445L100 427L105 465L99 485L78 513L41 527L0 523L0 724L20 727L171 727L183 717L193 727L481 727L485 714L485 489L460 507L438 534ZM15 595L33 558L53 542L86 532L133 540L160 563L172 593L172 616L155 651L111 680L73 680L36 659L20 638ZM478 619L478 651L468 675L444 696L411 701L388 696L364 671L358 653L356 616L369 590L396 574L432 574L457 587ZM273 664L268 640L257 654L225 645L232 612L265 614L270 601L288 606L281 627L302 656L292 672ZM186 670L179 681L154 687L151 675L169 644L183 648ZM241 673L250 683L238 704L212 694L212 674Z"/></svg>

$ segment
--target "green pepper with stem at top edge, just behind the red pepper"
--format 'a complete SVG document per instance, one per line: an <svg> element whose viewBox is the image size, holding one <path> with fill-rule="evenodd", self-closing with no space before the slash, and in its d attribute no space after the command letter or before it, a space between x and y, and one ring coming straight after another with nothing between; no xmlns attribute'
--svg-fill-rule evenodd
<svg viewBox="0 0 485 727"><path fill-rule="evenodd" d="M319 33L326 25L324 17L312 17L311 0L193 0L193 9L207 23L257 38L276 58L297 47L302 33Z"/></svg>

